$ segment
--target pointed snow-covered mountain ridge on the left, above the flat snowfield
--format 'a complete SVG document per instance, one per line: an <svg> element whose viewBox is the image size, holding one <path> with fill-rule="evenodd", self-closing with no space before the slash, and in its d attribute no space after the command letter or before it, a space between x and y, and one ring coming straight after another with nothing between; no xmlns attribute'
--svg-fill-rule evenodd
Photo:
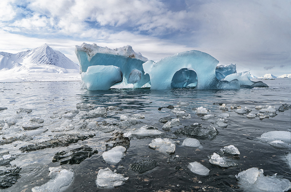
<svg viewBox="0 0 291 192"><path fill-rule="evenodd" d="M65 69L79 69L79 66L76 63L60 51L55 51L47 44L16 54L0 52L0 55L6 56L8 59L18 63L46 64L55 65Z"/></svg>

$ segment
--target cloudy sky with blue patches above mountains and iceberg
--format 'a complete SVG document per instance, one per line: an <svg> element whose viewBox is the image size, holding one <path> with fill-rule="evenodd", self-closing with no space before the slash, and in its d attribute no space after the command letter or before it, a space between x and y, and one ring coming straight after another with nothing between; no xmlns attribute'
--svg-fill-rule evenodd
<svg viewBox="0 0 291 192"><path fill-rule="evenodd" d="M131 45L153 61L199 50L260 77L291 73L291 1L1 0L0 51Z"/></svg>

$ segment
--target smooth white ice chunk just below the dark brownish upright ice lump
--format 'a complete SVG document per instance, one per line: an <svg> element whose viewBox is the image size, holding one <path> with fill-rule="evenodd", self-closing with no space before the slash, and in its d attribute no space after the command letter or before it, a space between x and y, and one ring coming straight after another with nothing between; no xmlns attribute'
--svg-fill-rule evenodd
<svg viewBox="0 0 291 192"><path fill-rule="evenodd" d="M102 157L104 161L106 161L106 163L116 165L124 157L125 152L126 152L125 147L116 146L109 151L103 152Z"/></svg>

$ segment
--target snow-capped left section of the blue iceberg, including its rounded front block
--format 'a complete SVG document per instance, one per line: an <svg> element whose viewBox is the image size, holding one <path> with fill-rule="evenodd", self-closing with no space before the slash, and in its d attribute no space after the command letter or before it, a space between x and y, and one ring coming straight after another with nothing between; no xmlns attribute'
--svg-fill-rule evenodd
<svg viewBox="0 0 291 192"><path fill-rule="evenodd" d="M98 86L92 86L90 90L109 89L121 82L124 86L132 83L139 88L150 81L149 75L144 74L142 65L148 59L134 52L129 45L109 49L95 43L83 43L81 46L76 45L75 53L80 63L82 88L86 88L88 82L95 84L96 79L99 81Z"/></svg>

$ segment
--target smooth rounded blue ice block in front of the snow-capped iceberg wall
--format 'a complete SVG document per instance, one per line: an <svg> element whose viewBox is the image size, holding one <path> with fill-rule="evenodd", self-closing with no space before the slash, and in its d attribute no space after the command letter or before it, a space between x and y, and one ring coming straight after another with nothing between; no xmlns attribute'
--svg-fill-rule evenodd
<svg viewBox="0 0 291 192"><path fill-rule="evenodd" d="M109 65L89 66L81 73L82 87L88 90L108 90L116 83L120 83L123 74L119 67ZM84 86L85 85L85 86Z"/></svg>

